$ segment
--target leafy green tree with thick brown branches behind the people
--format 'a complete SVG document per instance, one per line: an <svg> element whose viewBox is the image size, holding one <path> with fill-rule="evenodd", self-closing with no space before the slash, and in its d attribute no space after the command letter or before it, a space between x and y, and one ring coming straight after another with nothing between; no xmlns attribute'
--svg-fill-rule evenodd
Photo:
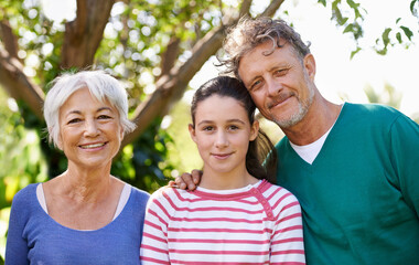
<svg viewBox="0 0 419 265"><path fill-rule="evenodd" d="M418 17L419 0L408 1L410 12ZM28 134L37 139L31 145L25 142L19 153L23 156L21 160L36 158L37 166L31 166L31 160L24 172L6 172L1 180L32 176L13 189L15 192L45 174L43 159L50 177L65 168L62 153L44 140L44 95L61 72L92 67L105 70L125 83L130 95L130 117L138 125L123 139L114 172L139 188L155 189L155 183L163 183L163 177L173 169L165 159L173 141L160 126L163 117L182 97L195 73L217 53L227 26L243 15L287 17L287 11L278 11L283 2L269 1L261 12L255 12L260 1L76 0L75 18L56 22L45 17L41 0L0 0L0 86L19 107L19 113L9 113L13 118L7 119L17 138L4 147L9 150L19 146L17 142L25 142ZM362 39L367 12L359 3L318 2L331 10L331 19L342 32L352 34L356 42ZM410 42L413 32L402 22L398 19L391 29L383 29L376 44L379 53ZM30 149L34 146L41 147L37 150L44 158L33 156Z"/></svg>

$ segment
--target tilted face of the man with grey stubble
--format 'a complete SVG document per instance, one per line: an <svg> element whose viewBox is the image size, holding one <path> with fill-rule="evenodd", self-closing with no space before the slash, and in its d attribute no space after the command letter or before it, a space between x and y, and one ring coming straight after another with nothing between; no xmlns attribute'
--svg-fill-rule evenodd
<svg viewBox="0 0 419 265"><path fill-rule="evenodd" d="M313 102L315 62L311 54L301 62L288 43L264 55L271 49L267 41L245 54L238 74L260 113L289 128L305 116Z"/></svg>

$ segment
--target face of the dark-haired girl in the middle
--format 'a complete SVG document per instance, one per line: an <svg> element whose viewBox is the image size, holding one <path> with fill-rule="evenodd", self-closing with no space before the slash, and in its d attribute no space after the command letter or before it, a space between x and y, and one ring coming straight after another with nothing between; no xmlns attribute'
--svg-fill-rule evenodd
<svg viewBox="0 0 419 265"><path fill-rule="evenodd" d="M204 161L205 174L243 174L249 141L259 124L250 125L246 109L233 97L211 96L196 106L195 128L189 127Z"/></svg>

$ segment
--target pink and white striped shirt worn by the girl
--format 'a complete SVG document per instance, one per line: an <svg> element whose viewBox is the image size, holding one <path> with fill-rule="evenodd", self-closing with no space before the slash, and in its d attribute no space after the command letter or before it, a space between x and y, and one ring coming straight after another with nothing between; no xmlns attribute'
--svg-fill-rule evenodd
<svg viewBox="0 0 419 265"><path fill-rule="evenodd" d="M296 197L267 181L228 191L162 188L148 203L148 264L305 264Z"/></svg>

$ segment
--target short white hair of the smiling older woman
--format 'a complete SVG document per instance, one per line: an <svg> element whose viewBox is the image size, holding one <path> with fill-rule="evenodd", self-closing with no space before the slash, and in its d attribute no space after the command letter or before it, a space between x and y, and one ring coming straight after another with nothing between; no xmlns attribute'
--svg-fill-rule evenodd
<svg viewBox="0 0 419 265"><path fill-rule="evenodd" d="M136 125L128 119L127 92L121 84L103 71L83 71L56 77L53 87L46 94L44 117L50 142L54 142L55 146L58 142L60 108L73 93L84 87L87 87L99 102L108 100L118 110L123 134L136 128Z"/></svg>

